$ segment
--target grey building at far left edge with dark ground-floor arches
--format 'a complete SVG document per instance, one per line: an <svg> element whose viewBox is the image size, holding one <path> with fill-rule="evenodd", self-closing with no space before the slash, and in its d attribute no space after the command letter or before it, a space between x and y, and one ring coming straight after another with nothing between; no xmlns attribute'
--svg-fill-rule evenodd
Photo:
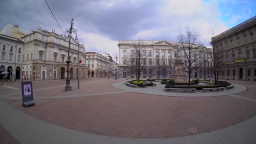
<svg viewBox="0 0 256 144"><path fill-rule="evenodd" d="M23 46L23 41L0 34L0 73L8 72L7 79L21 79Z"/></svg>

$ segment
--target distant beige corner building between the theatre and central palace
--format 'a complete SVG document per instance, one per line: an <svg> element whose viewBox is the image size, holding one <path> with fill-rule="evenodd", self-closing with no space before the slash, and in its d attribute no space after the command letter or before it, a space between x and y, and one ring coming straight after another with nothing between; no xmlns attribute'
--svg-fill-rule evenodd
<svg viewBox="0 0 256 144"><path fill-rule="evenodd" d="M86 52L85 56L89 77L108 77L109 57L96 52Z"/></svg>

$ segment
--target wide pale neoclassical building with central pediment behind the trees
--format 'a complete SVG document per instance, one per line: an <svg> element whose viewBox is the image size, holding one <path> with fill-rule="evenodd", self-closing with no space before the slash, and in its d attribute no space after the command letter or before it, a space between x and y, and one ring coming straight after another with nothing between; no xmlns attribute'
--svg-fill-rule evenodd
<svg viewBox="0 0 256 144"><path fill-rule="evenodd" d="M136 78L136 75L130 74L128 67L129 56L133 53L135 45L140 43L144 46L143 53L147 55L146 67L142 72L142 79L156 79L158 77L156 65L158 62L161 63L162 69L160 71L160 78L172 78L173 75L173 63L177 56L181 56L183 63L186 62L184 59L184 53L180 51L180 45L166 40L151 40L151 41L137 41L137 40L120 40L117 44L119 47L119 77ZM210 60L212 49L205 47L195 47L200 51L199 62L203 62L202 59L207 57ZM209 67L210 64L207 64ZM204 64L200 67L195 68L191 77L192 78L208 78L213 77L213 74L209 70L204 70ZM206 71L206 72L205 72Z"/></svg>

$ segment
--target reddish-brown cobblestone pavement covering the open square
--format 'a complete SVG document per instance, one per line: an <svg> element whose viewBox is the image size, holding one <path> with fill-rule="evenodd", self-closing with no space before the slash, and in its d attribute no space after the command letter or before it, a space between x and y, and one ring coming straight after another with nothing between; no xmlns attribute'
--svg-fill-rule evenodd
<svg viewBox="0 0 256 144"><path fill-rule="evenodd" d="M205 133L240 123L256 115L256 103L253 101L237 99L232 96L168 97L147 95L125 92L111 86L112 83L121 81L125 80L107 80L106 78L82 80L79 90L76 88L76 81L72 81L72 92L63 92L63 85L65 85L63 81L35 83L33 84L35 85L34 90L36 90L35 106L21 107L19 99L4 99L4 101L22 112L54 125L122 138L188 136L191 133L187 128L196 128L198 132L193 134ZM256 83L246 81L232 82L251 87L256 85ZM251 87L248 91L237 95L252 98L256 89ZM17 91L13 91L13 93L18 93ZM116 91L121 92L66 99L37 99L40 96L67 96ZM19 96L19 94L16 95Z"/></svg>

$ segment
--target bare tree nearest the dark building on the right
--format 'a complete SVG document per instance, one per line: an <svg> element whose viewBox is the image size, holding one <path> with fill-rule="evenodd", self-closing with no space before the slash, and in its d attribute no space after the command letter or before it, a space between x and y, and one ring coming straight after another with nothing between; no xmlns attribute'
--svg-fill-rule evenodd
<svg viewBox="0 0 256 144"><path fill-rule="evenodd" d="M226 67L226 63L224 62L224 55L222 55L221 47L218 45L212 45L213 46L213 55L208 60L208 62L211 63L211 67L208 67L208 69L213 72L214 74L214 84L216 85L218 82L219 72L223 70L224 67Z"/></svg>

